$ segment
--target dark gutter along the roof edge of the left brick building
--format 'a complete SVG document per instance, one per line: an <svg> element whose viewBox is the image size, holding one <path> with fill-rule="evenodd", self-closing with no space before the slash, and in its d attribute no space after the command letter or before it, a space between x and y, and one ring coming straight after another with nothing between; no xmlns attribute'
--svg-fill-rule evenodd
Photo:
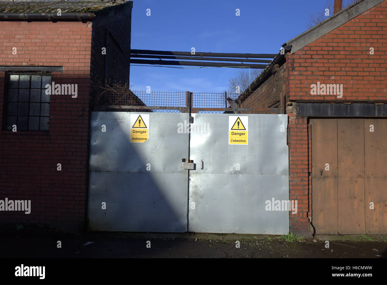
<svg viewBox="0 0 387 285"><path fill-rule="evenodd" d="M95 17L94 13L0 13L0 21L82 21L89 22Z"/></svg>

